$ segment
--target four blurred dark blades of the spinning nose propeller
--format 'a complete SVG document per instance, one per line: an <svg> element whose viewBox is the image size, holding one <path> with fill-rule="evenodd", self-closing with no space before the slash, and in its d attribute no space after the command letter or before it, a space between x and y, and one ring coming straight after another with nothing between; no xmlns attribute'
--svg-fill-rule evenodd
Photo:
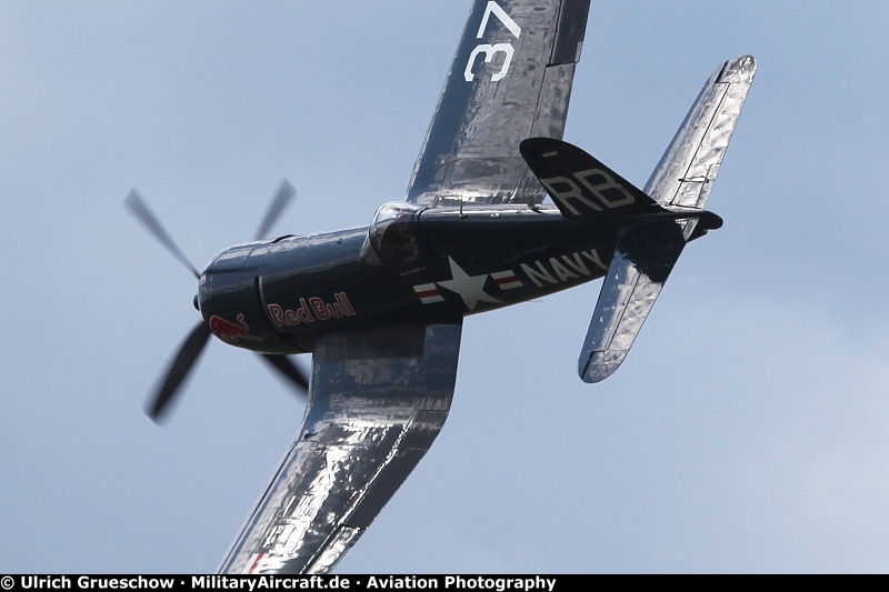
<svg viewBox="0 0 889 592"><path fill-rule="evenodd" d="M259 225L253 240L262 240L266 238L266 233L278 220L278 217L281 214L288 203L290 203L290 201L293 199L294 193L296 190L293 189L293 185L291 185L287 180L283 180L281 182L281 187L278 189L278 192L274 194L274 198L269 205L269 210L266 212L266 217L262 219L262 223ZM160 241L160 243L163 244L163 247L170 251L170 253L176 257L180 263L191 271L194 278L200 279L200 273L198 272L197 268L194 268L194 265L192 265L188 258L182 253L176 242L170 238L161 223L158 221L157 217L151 213L151 210L148 209L144 200L142 200L134 189L127 195L124 204L130 209L133 215L136 215L136 218L138 218L139 221L146 225L148 231L156 239L158 239L158 241ZM179 393L182 382L186 380L189 372L191 372L191 369L194 367L198 358L200 358L203 349L207 347L207 341L209 339L210 325L201 320L194 325L189 335L179 347L179 351L170 361L163 380L160 382L160 387L149 400L149 404L146 405L146 412L156 423L159 423L166 417L166 413L170 408L170 403ZM272 369L274 369L274 371L283 377L290 384L292 384L297 389L300 397L306 395L309 390L309 381L306 378L304 372L300 370L290 358L283 354L260 354L260 357Z"/></svg>

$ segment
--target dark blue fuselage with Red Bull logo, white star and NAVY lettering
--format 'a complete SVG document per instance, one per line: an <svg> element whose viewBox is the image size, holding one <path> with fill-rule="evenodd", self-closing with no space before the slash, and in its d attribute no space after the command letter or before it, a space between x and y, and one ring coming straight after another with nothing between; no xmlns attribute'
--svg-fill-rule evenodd
<svg viewBox="0 0 889 592"><path fill-rule="evenodd" d="M619 230L555 208L391 203L370 227L222 251L201 274L198 302L227 343L308 352L322 333L452 320L601 278Z"/></svg>

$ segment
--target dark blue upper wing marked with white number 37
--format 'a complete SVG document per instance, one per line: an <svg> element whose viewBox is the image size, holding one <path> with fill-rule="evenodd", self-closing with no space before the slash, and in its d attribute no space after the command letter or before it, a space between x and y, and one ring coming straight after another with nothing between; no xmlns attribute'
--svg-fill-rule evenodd
<svg viewBox="0 0 889 592"><path fill-rule="evenodd" d="M589 8L590 0L475 0L407 201L543 200L519 142L562 138Z"/></svg>

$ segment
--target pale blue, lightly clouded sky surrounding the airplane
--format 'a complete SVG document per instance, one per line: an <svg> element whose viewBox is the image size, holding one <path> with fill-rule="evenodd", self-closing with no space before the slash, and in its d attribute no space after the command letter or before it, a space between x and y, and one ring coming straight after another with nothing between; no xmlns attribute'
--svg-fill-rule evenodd
<svg viewBox="0 0 889 592"><path fill-rule="evenodd" d="M302 405L208 348L143 401L199 267L401 199L468 1L0 4L4 572L211 572ZM367 572L889 570L889 4L595 1L566 139L641 185L700 86L759 73L620 371L576 360L599 283L466 323L436 445L340 563ZM308 362L308 360L303 360Z"/></svg>

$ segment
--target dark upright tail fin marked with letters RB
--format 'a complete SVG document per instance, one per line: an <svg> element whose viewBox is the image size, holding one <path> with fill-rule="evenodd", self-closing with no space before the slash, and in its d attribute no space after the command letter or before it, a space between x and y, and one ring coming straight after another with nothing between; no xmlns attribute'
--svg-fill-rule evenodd
<svg viewBox="0 0 889 592"><path fill-rule="evenodd" d="M568 142L529 138L519 150L566 218L605 221L661 210L632 183Z"/></svg>

